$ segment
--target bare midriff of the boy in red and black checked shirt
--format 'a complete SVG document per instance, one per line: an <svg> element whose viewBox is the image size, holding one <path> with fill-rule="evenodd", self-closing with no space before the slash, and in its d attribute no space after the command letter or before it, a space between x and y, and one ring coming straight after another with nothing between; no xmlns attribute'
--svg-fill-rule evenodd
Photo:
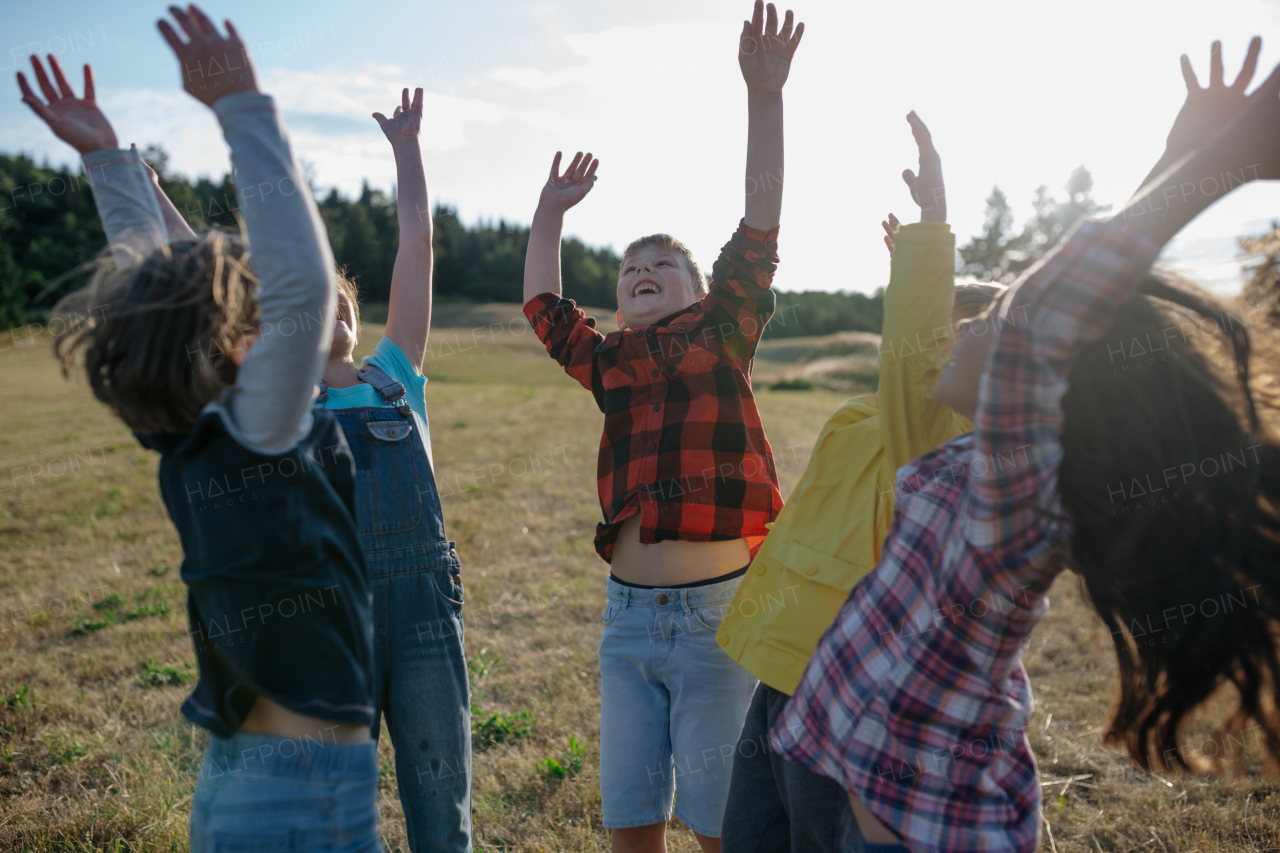
<svg viewBox="0 0 1280 853"><path fill-rule="evenodd" d="M640 516L622 523L613 543L612 571L616 578L645 587L677 587L737 571L751 561L746 539L640 542Z"/></svg>

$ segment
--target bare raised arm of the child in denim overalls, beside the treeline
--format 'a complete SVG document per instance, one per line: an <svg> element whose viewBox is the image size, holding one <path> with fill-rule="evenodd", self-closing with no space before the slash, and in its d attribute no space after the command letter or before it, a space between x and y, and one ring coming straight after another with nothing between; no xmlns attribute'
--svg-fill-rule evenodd
<svg viewBox="0 0 1280 853"><path fill-rule="evenodd" d="M417 142L422 127L422 90L401 92L401 105L387 118L374 113L396 154L396 214L399 220L399 248L392 270L392 298L387 310L387 336L408 357L415 369L422 366L426 336L431 330L431 209L426 196L422 149Z"/></svg>

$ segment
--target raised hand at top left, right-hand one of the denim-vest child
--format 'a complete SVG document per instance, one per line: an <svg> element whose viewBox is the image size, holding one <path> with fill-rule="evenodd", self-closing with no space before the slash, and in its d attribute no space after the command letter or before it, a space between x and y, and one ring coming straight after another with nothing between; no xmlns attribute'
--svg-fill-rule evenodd
<svg viewBox="0 0 1280 853"><path fill-rule="evenodd" d="M160 20L156 26L177 54L182 68L182 87L192 97L205 106L212 106L224 95L257 91L248 51L230 20L223 22L227 24L227 37L223 38L214 22L196 4L186 9L169 6L169 14L191 41L183 41L168 20Z"/></svg>

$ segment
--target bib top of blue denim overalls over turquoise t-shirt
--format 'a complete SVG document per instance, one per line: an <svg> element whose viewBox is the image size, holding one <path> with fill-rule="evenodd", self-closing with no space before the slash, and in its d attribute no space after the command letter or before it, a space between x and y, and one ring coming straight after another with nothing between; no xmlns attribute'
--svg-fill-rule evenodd
<svg viewBox="0 0 1280 853"><path fill-rule="evenodd" d="M461 599L458 552L444 535L426 437L404 401L404 386L371 364L360 375L387 405L324 411L338 419L356 460L356 520L369 573L443 570ZM321 382L316 402L324 403L328 393Z"/></svg>

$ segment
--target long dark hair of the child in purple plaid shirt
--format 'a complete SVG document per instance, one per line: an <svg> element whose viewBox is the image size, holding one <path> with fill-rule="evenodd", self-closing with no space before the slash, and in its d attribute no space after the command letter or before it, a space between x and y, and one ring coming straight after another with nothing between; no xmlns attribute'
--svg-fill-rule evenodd
<svg viewBox="0 0 1280 853"><path fill-rule="evenodd" d="M1062 398L1069 565L1120 665L1107 739L1148 768L1189 766L1184 724L1226 684L1239 704L1224 727L1253 720L1280 758L1280 447L1252 346L1238 314L1147 278Z"/></svg>

